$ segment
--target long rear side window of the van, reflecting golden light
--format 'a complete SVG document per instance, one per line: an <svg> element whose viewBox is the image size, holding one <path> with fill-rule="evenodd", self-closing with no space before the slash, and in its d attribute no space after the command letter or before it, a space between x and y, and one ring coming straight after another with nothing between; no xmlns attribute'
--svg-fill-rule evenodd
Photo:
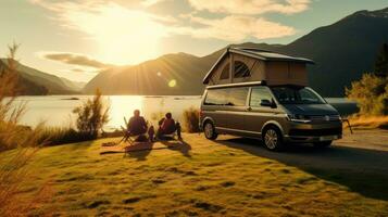
<svg viewBox="0 0 388 217"><path fill-rule="evenodd" d="M225 88L225 89L210 89L204 99L205 105L230 105L243 106L246 105L248 95L248 88Z"/></svg>

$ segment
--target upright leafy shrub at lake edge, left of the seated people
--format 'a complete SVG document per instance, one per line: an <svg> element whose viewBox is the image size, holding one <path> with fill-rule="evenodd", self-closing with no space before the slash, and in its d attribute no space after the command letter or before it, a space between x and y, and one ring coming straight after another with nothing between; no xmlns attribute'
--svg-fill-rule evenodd
<svg viewBox="0 0 388 217"><path fill-rule="evenodd" d="M78 131L90 139L97 138L102 127L109 122L109 108L101 98L101 91L97 89L92 100L87 100L73 111L77 115Z"/></svg>

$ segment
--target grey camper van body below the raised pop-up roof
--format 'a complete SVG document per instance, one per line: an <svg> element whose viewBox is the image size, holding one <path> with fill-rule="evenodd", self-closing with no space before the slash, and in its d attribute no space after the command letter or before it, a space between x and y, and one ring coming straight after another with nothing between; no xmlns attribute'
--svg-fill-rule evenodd
<svg viewBox="0 0 388 217"><path fill-rule="evenodd" d="M293 94L301 95L299 101ZM271 87L264 81L208 86L199 125L209 139L227 133L263 139L265 144L271 140L268 129L277 132L275 139L281 143L327 146L342 137L339 113L315 91L287 85Z"/></svg>

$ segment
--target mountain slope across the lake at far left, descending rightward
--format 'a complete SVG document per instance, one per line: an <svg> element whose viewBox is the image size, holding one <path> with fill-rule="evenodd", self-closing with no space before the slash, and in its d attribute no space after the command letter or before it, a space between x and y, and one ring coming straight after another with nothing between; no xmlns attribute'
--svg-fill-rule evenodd
<svg viewBox="0 0 388 217"><path fill-rule="evenodd" d="M0 68L7 66L7 59L0 59ZM61 78L17 63L21 94L75 94L79 93ZM79 89L78 89L79 90Z"/></svg>

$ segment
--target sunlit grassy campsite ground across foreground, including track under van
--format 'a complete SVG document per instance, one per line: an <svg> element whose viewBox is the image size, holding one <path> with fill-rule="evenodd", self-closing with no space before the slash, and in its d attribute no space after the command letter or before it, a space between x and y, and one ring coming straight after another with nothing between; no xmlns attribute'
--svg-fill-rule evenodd
<svg viewBox="0 0 388 217"><path fill-rule="evenodd" d="M100 155L101 143L40 150L21 189L48 199L32 214L123 216L387 216L388 131L358 130L335 145L283 153L222 136ZM0 164L13 151L0 154Z"/></svg>

